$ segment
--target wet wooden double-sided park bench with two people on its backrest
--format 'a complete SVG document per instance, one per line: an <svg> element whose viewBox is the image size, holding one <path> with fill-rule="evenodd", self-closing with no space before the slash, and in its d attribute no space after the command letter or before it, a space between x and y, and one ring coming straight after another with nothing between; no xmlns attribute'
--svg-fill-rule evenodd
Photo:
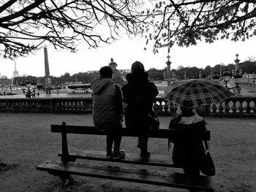
<svg viewBox="0 0 256 192"><path fill-rule="evenodd" d="M126 154L121 160L107 158L105 152L96 150L84 150L83 153L69 153L67 145L67 134L90 134L103 135L94 126L67 126L51 125L51 132L60 133L62 137L62 153L59 154L61 160L49 160L37 166L37 170L47 171L50 174L57 175L61 178L63 184L70 175L81 175L86 177L97 177L109 180L120 180L132 183L144 183L150 185L161 185L171 188L185 188L189 190L214 191L211 183L211 177L207 176L190 176L183 173L173 172L172 168L181 168L173 164L170 155L151 155L150 158L140 158L139 154ZM128 128L122 129L123 137L138 137L138 134ZM210 140L210 131L189 131L184 132L174 129L151 130L149 137L180 139L200 139ZM104 143L105 145L105 143ZM85 163L75 162L77 159L85 159ZM97 162L105 162L97 164ZM108 163L110 163L110 165ZM114 163L113 163L114 162ZM118 166L121 164L121 166ZM127 165L138 164L140 168ZM165 167L167 171L148 169L148 166Z"/></svg>

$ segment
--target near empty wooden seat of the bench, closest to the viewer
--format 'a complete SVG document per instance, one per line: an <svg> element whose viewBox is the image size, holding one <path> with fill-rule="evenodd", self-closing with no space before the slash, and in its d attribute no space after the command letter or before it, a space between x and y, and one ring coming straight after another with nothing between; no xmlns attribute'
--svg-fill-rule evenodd
<svg viewBox="0 0 256 192"><path fill-rule="evenodd" d="M189 176L186 174L159 172L146 169L132 169L118 166L89 165L80 163L62 163L61 161L46 161L37 166L37 170L48 171L51 174L77 174L110 180L121 180L133 183L162 185L203 191L214 191L211 178L205 176Z"/></svg>

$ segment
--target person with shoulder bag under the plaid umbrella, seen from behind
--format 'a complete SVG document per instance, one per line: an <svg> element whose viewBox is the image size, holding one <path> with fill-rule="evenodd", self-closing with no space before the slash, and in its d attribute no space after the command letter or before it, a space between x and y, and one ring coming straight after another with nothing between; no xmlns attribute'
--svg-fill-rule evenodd
<svg viewBox="0 0 256 192"><path fill-rule="evenodd" d="M181 113L170 120L169 128L183 130L206 130L206 121L195 114L193 108L181 106ZM185 174L199 175L200 169L206 163L206 150L202 141L189 140L180 141L178 139L169 139L173 146L173 163L183 167Z"/></svg>

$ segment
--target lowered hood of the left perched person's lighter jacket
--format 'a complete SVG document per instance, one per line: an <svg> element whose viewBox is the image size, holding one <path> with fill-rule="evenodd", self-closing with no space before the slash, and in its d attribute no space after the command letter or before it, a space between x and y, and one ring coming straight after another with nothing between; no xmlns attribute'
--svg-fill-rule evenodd
<svg viewBox="0 0 256 192"><path fill-rule="evenodd" d="M105 91L108 86L113 84L113 80L110 78L99 77L91 82L91 90L94 94L99 94Z"/></svg>

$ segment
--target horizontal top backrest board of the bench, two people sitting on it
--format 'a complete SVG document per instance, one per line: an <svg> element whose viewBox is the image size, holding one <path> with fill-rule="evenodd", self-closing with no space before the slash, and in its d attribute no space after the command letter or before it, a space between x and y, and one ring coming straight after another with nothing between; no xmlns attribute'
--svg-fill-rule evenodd
<svg viewBox="0 0 256 192"><path fill-rule="evenodd" d="M61 133L65 130L67 134L94 134L106 135L105 132L100 132L94 126L62 126L51 125L50 131L53 133ZM122 135L124 137L138 137L138 132L129 128L122 128ZM183 131L177 129L151 129L149 133L151 138L173 138L173 139L201 139L210 140L210 131Z"/></svg>

